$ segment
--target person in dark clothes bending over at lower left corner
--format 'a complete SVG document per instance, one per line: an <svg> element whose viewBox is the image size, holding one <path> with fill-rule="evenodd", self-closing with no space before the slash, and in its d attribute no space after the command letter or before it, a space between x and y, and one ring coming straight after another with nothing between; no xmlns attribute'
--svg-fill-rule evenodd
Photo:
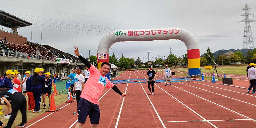
<svg viewBox="0 0 256 128"><path fill-rule="evenodd" d="M18 127L25 127L25 124L27 123L27 100L25 96L14 89L0 88L0 98L2 98L8 105L12 106L12 114L5 128L12 127L19 109L22 114L22 121L18 124ZM12 101L12 105L9 101Z"/></svg>

